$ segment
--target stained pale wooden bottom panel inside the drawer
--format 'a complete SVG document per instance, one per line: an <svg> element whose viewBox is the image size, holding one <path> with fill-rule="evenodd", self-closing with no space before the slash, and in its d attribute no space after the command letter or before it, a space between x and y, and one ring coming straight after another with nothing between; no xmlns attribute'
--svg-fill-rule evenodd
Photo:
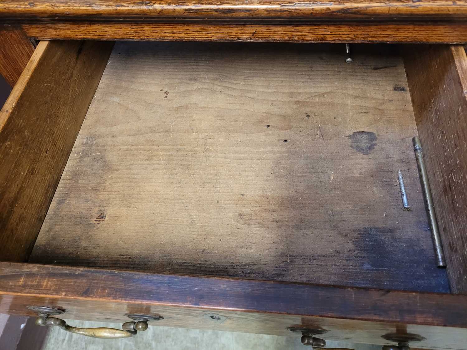
<svg viewBox="0 0 467 350"><path fill-rule="evenodd" d="M341 49L119 43L31 261L447 291L402 59Z"/></svg>

